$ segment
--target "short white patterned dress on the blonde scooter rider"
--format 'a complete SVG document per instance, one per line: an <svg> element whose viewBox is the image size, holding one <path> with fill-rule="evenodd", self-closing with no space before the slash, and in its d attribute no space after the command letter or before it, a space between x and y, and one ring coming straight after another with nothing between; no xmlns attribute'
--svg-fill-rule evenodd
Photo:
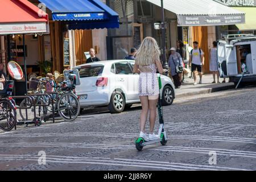
<svg viewBox="0 0 256 182"><path fill-rule="evenodd" d="M151 72L141 72L139 74L139 96L156 96L159 95L158 75L156 73L156 65L150 64L143 68L151 68ZM153 99L153 98L152 98Z"/></svg>

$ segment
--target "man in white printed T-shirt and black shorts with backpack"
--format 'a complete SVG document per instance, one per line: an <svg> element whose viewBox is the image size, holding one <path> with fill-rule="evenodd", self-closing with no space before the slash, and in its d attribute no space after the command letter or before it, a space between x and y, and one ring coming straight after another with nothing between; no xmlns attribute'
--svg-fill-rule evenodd
<svg viewBox="0 0 256 182"><path fill-rule="evenodd" d="M198 42L193 42L193 46L194 48L189 53L189 65L191 65L191 71L193 72L193 78L195 80L193 85L196 85L196 71L199 73L200 76L199 84L202 84L202 67L204 65L204 52L202 51L202 49L199 48Z"/></svg>

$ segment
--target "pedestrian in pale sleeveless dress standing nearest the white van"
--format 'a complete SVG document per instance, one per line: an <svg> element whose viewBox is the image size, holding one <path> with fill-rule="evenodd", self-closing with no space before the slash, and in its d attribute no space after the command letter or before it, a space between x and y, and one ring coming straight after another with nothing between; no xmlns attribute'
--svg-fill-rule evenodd
<svg viewBox="0 0 256 182"><path fill-rule="evenodd" d="M220 75L218 73L218 66L217 66L217 42L214 41L213 47L209 49L209 60L210 60L210 72L213 75L213 82L212 84L216 84L215 76L217 76L217 83L219 84Z"/></svg>

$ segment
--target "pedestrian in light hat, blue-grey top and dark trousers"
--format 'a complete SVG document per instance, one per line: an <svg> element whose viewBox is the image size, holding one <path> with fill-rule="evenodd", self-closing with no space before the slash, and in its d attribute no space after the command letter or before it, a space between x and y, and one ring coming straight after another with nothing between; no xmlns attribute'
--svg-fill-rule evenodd
<svg viewBox="0 0 256 182"><path fill-rule="evenodd" d="M180 73L183 71L183 61L180 53L176 52L176 49L172 47L170 49L171 55L168 60L171 76L174 79L175 88L180 88L181 80Z"/></svg>

